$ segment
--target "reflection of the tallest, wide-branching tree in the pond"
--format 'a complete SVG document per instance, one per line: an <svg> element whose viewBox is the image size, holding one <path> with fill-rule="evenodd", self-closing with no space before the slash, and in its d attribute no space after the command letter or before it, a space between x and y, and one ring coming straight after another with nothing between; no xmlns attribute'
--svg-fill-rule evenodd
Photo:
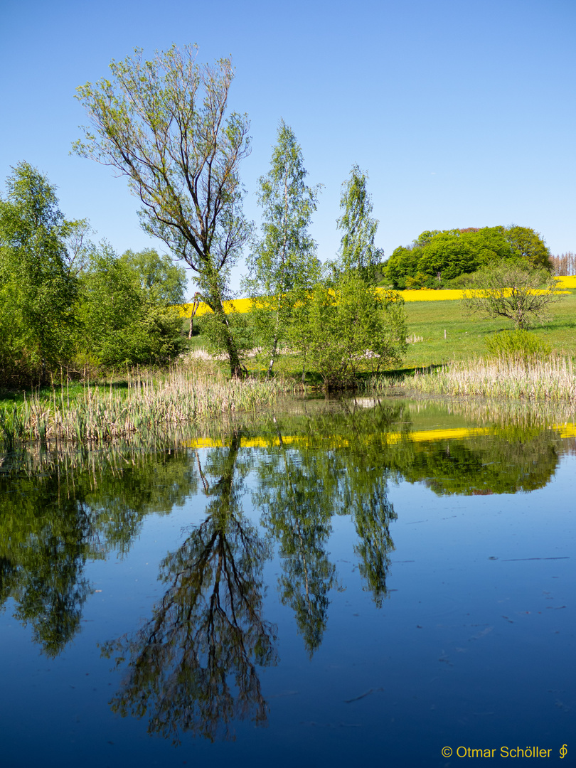
<svg viewBox="0 0 576 768"><path fill-rule="evenodd" d="M240 504L248 465L240 434L230 447L198 459L204 522L161 565L168 585L151 620L131 639L107 644L104 655L129 657L111 702L123 716L149 717L148 730L178 743L180 731L233 737L233 720L266 723L257 666L276 663L276 630L262 617L262 568L269 549Z"/></svg>

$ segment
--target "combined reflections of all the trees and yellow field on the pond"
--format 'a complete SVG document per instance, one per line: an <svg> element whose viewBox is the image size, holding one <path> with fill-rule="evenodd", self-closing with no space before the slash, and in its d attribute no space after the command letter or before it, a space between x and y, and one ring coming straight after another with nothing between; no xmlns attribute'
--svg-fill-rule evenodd
<svg viewBox="0 0 576 768"><path fill-rule="evenodd" d="M205 519L162 562L163 600L140 631L104 646L118 667L126 664L111 703L147 716L151 732L175 741L182 731L231 737L233 720L264 724L258 667L277 660L276 630L263 617L263 564L273 544L280 601L311 657L338 588L328 549L333 515L350 515L359 571L380 605L394 549L389 478L423 482L439 495L526 492L549 482L566 449L558 429L538 419L450 436L429 428L431 419L442 423L444 407L426 405L425 429L415 430L406 402L373 405L263 417L211 449L204 467L195 452L172 448L3 457L0 607L12 599L18 621L56 656L80 631L92 591L86 564L111 550L126 554L150 512L189 503L199 489ZM265 449L241 450L244 434ZM243 514L249 472L262 528Z"/></svg>

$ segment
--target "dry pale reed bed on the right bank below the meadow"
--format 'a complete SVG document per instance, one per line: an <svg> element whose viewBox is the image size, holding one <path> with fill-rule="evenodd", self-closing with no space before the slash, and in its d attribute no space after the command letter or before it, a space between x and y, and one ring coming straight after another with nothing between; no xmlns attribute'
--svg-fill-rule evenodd
<svg viewBox="0 0 576 768"><path fill-rule="evenodd" d="M417 371L410 388L425 394L573 402L576 372L568 357L502 356Z"/></svg>

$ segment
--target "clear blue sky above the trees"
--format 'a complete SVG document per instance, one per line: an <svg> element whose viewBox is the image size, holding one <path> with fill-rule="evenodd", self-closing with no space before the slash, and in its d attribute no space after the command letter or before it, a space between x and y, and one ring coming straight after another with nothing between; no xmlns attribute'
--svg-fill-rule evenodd
<svg viewBox="0 0 576 768"><path fill-rule="evenodd" d="M339 244L350 167L369 173L386 256L420 232L517 223L576 250L574 0L0 0L0 179L26 160L122 252L155 245L111 169L68 153L86 122L75 88L134 46L231 55L233 107L251 121L246 211L278 121L324 184L313 236ZM241 271L241 270L240 270ZM235 276L237 283L238 273Z"/></svg>

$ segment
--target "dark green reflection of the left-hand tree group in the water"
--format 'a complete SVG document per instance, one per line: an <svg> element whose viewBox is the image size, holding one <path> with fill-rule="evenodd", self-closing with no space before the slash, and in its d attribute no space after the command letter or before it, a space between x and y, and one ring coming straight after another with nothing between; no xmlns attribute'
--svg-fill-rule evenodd
<svg viewBox="0 0 576 768"><path fill-rule="evenodd" d="M89 560L126 554L143 519L183 505L197 478L174 449L80 455L25 452L3 458L0 475L0 610L29 624L49 657L81 629L93 589Z"/></svg>

